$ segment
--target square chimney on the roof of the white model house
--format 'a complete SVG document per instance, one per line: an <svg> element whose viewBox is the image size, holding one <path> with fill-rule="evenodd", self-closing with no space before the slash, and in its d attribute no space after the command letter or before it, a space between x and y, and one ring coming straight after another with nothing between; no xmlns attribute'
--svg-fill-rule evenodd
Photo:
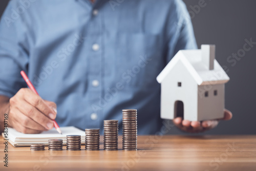
<svg viewBox="0 0 256 171"><path fill-rule="evenodd" d="M215 45L202 45L202 62L208 70L214 70Z"/></svg>

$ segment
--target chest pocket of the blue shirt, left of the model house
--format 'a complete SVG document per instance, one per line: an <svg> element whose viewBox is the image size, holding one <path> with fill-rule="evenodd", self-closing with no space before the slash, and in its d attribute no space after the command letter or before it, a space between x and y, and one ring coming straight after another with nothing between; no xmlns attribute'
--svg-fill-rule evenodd
<svg viewBox="0 0 256 171"><path fill-rule="evenodd" d="M163 66L158 34L122 33L115 39L115 78L124 85L152 88Z"/></svg>

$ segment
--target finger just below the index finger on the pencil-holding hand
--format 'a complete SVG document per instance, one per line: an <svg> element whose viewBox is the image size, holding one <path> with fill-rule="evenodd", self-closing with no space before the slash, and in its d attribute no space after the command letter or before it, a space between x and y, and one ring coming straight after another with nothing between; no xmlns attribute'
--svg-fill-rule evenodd
<svg viewBox="0 0 256 171"><path fill-rule="evenodd" d="M27 102L23 102L23 105L16 106L16 108L25 114L27 117L33 119L38 124L44 126L47 130L53 128L53 121L49 119L47 116L38 111L34 106Z"/></svg>

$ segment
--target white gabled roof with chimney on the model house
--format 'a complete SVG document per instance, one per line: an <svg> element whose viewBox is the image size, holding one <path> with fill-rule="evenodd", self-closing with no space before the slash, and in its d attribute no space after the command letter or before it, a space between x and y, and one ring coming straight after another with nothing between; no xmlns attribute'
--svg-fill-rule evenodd
<svg viewBox="0 0 256 171"><path fill-rule="evenodd" d="M199 50L180 50L157 76L161 83L172 72L176 63L181 61L197 84L221 84L226 83L229 77L215 59L215 45L202 45Z"/></svg>

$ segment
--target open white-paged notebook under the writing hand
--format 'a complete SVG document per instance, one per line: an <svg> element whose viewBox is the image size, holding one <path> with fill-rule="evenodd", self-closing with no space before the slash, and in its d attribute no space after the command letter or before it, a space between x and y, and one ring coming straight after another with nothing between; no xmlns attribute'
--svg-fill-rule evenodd
<svg viewBox="0 0 256 171"><path fill-rule="evenodd" d="M85 133L74 126L60 127L62 135L55 128L49 131L44 131L41 134L23 134L12 128L8 128L9 143L14 147L30 146L31 144L43 143L48 145L49 139L62 139L63 145L67 144L67 135L81 135L81 144L84 144Z"/></svg>

